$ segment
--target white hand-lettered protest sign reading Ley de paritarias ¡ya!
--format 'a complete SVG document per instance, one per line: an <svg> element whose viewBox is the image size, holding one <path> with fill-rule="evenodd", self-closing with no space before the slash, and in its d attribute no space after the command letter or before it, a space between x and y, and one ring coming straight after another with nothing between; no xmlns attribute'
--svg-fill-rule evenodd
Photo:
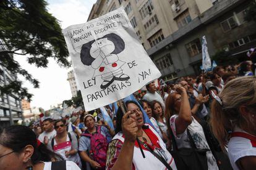
<svg viewBox="0 0 256 170"><path fill-rule="evenodd" d="M86 111L123 99L161 76L123 7L62 32Z"/></svg>

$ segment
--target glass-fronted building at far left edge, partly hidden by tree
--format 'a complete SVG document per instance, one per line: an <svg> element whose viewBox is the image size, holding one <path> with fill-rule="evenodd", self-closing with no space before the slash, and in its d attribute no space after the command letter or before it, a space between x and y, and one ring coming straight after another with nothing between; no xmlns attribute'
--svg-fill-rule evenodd
<svg viewBox="0 0 256 170"><path fill-rule="evenodd" d="M0 44L4 44L1 39ZM4 50L6 50L6 47L0 45L0 51ZM17 79L17 76L10 73L0 64L0 86L5 86L15 79ZM22 121L20 102L20 97L17 94L3 94L0 96L0 127L10 126Z"/></svg>

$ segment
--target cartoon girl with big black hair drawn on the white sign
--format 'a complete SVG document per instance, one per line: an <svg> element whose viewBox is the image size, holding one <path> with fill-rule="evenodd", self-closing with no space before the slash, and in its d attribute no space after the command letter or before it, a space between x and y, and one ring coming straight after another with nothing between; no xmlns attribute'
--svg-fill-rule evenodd
<svg viewBox="0 0 256 170"><path fill-rule="evenodd" d="M91 65L95 69L92 78L101 76L103 79L101 89L108 87L114 80L130 79L122 70L122 66L126 62L119 60L117 55L124 51L124 47L124 40L114 33L83 44L80 59L84 65Z"/></svg>

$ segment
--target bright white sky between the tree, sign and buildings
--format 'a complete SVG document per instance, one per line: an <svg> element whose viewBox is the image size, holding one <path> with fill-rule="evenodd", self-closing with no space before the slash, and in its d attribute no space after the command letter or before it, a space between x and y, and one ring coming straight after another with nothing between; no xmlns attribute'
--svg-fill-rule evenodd
<svg viewBox="0 0 256 170"><path fill-rule="evenodd" d="M61 28L87 22L88 15L96 0L51 0L48 1L48 12L56 17ZM49 60L47 68L37 68L27 63L26 57L15 56L22 68L25 68L33 78L40 81L40 88L33 88L32 84L19 77L28 92L33 94L30 107L41 107L48 110L51 105L62 103L72 97L67 72L72 68L61 68L54 59Z"/></svg>

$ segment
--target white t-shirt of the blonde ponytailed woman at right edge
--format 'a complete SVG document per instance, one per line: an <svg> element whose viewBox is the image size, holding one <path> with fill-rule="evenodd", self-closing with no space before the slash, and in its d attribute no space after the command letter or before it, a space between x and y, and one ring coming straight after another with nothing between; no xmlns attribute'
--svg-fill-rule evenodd
<svg viewBox="0 0 256 170"><path fill-rule="evenodd" d="M239 127L234 128L234 132L244 132ZM239 170L236 166L236 161L244 156L256 156L256 147L252 147L252 143L249 139L244 137L231 137L228 143L228 157L232 168Z"/></svg>

